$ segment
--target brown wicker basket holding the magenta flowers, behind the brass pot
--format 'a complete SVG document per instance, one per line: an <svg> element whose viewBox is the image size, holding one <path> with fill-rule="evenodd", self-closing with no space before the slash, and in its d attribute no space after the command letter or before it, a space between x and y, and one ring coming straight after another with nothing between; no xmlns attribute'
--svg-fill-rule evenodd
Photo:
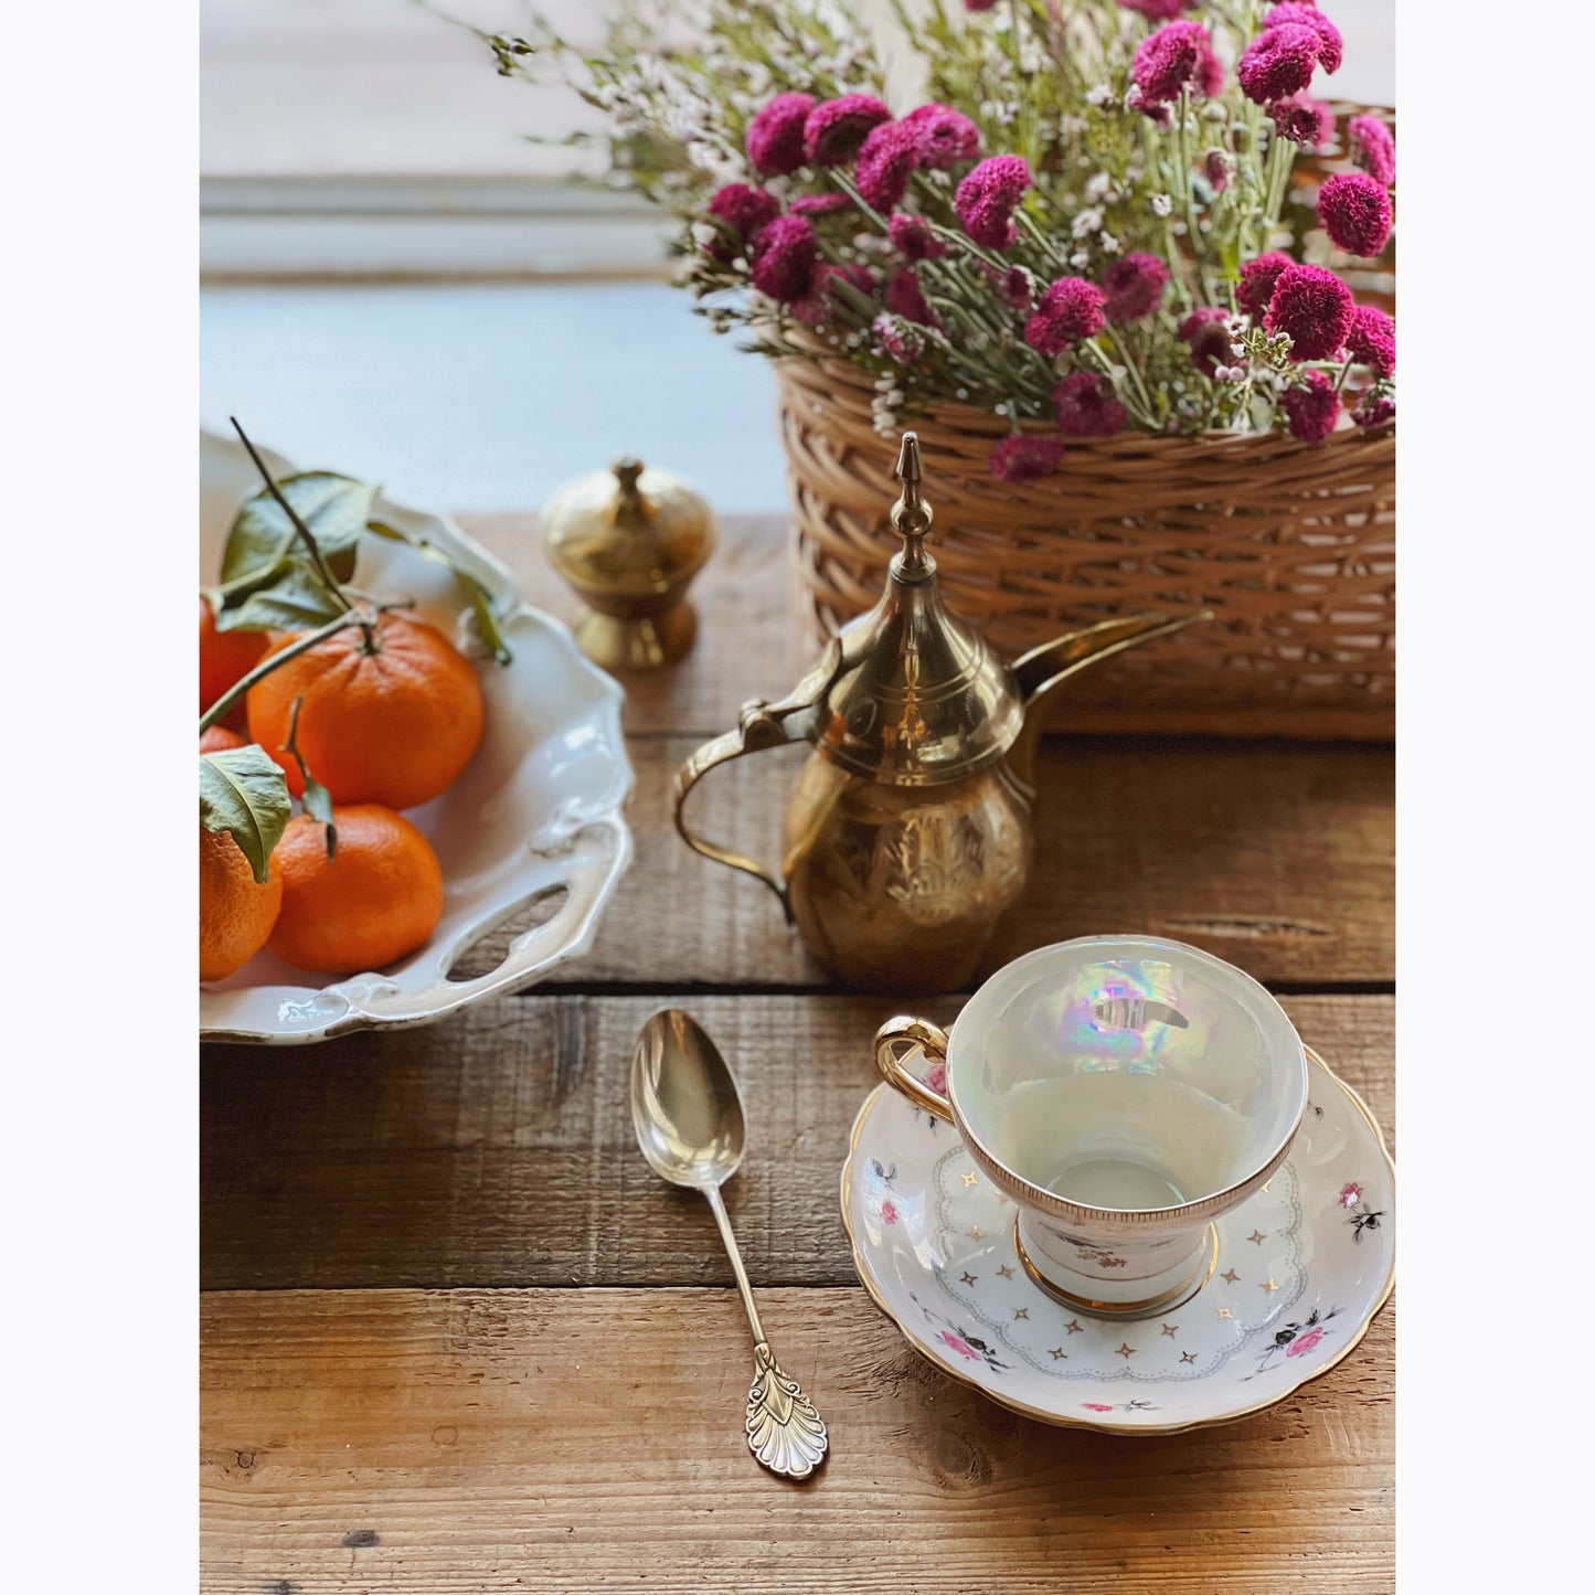
<svg viewBox="0 0 1595 1595"><path fill-rule="evenodd" d="M823 636L880 593L896 445L857 367L775 368L802 609ZM1394 427L1317 447L1121 434L1008 486L986 466L1003 421L944 405L914 426L947 601L1010 657L1134 609L1217 616L1083 673L1051 727L1394 737Z"/></svg>

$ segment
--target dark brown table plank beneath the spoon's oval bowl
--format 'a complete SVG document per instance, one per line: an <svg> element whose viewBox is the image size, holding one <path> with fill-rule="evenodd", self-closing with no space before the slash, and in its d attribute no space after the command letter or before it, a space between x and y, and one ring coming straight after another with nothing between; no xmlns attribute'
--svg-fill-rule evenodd
<svg viewBox="0 0 1595 1595"><path fill-rule="evenodd" d="M207 1048L201 1278L207 1289L731 1284L700 1198L632 1139L627 1078L652 997L483 1003L445 1026L317 1048ZM756 1284L855 1281L837 1214L853 1115L876 1083L874 997L700 997L748 1110L727 1185ZM960 1002L924 1005L951 1021ZM1394 1115L1394 1002L1286 1008Z"/></svg>

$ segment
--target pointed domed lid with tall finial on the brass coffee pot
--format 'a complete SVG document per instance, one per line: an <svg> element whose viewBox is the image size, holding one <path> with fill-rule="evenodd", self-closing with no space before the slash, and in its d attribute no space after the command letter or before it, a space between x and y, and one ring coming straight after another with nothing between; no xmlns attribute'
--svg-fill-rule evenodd
<svg viewBox="0 0 1595 1595"><path fill-rule="evenodd" d="M925 547L919 435L903 434L892 526L903 547L887 589L841 632L842 664L815 718L817 745L844 769L928 786L995 762L1024 727L1019 683L984 636L952 614Z"/></svg>

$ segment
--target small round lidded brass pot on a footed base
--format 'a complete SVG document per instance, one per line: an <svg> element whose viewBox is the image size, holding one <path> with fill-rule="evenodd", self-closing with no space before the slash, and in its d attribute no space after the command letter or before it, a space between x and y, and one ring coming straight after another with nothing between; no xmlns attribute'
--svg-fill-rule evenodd
<svg viewBox="0 0 1595 1595"><path fill-rule="evenodd" d="M654 670L697 636L687 584L718 541L715 512L678 477L617 459L560 488L542 510L549 563L585 608L571 620L606 670Z"/></svg>

